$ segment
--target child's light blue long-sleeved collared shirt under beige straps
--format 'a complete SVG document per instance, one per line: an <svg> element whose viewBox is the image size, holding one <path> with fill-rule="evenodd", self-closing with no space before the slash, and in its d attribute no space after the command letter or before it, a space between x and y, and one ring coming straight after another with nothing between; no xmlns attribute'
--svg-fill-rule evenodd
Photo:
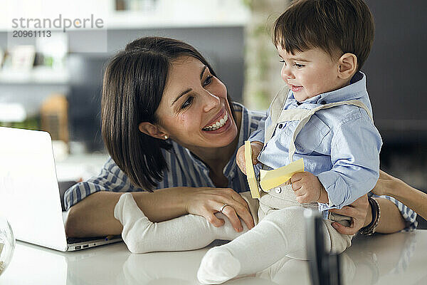
<svg viewBox="0 0 427 285"><path fill-rule="evenodd" d="M344 88L316 95L302 103L298 103L290 91L284 109L313 109L347 100L362 101L372 113L364 73L357 73ZM265 129L271 123L268 117L250 140L264 142ZM297 123L278 122L258 160L272 169L288 165L290 140ZM364 109L339 105L312 115L297 135L293 160L303 158L305 171L316 175L325 187L330 203L320 204L320 210L340 209L374 188L379 177L381 145L381 136Z"/></svg>

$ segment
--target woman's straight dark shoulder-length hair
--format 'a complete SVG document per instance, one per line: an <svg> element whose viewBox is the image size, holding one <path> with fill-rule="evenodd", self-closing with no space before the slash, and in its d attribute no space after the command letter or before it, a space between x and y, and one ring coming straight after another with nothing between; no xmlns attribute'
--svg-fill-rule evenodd
<svg viewBox="0 0 427 285"><path fill-rule="evenodd" d="M128 43L105 69L102 83L102 138L112 160L132 184L151 191L168 169L162 148L172 145L139 131L142 122L158 123L156 110L164 93L169 68L181 56L211 65L196 48L172 38L144 37ZM233 104L227 95L234 117Z"/></svg>

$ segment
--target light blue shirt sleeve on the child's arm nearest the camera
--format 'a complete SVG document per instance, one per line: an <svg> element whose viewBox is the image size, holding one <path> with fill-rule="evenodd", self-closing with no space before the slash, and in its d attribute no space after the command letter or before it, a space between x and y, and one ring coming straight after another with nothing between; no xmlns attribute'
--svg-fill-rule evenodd
<svg viewBox="0 0 427 285"><path fill-rule="evenodd" d="M379 177L382 142L371 120L360 113L353 113L332 132L332 169L317 178L327 192L326 208L342 208L374 188Z"/></svg>

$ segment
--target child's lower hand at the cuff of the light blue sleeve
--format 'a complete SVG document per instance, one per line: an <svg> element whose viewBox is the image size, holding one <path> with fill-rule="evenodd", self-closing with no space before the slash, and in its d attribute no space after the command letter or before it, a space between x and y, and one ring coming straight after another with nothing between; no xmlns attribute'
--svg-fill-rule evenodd
<svg viewBox="0 0 427 285"><path fill-rule="evenodd" d="M319 178L310 172L295 173L290 178L292 190L300 203L327 202L321 198L327 197L327 193Z"/></svg>

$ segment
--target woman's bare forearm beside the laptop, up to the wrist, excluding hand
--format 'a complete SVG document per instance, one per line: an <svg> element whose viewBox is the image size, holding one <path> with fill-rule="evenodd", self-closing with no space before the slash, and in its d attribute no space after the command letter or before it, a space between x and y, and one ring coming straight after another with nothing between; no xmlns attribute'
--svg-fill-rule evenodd
<svg viewBox="0 0 427 285"><path fill-rule="evenodd" d="M155 192L132 193L135 202L152 222L161 222L187 214L184 193L187 187ZM65 224L67 237L96 237L120 234L122 224L114 217L114 208L122 193L96 192L70 208Z"/></svg>

